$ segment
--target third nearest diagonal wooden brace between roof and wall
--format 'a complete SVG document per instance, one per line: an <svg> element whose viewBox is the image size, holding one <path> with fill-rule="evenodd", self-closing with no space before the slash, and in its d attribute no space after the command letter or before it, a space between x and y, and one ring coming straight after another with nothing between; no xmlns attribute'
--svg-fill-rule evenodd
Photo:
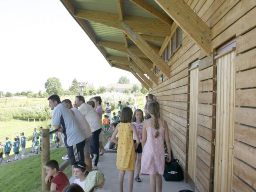
<svg viewBox="0 0 256 192"><path fill-rule="evenodd" d="M134 54L131 50L127 49L130 58L144 71L145 74L147 74L152 81L155 84L158 84L158 78L157 76L148 68L148 66L136 55Z"/></svg>

